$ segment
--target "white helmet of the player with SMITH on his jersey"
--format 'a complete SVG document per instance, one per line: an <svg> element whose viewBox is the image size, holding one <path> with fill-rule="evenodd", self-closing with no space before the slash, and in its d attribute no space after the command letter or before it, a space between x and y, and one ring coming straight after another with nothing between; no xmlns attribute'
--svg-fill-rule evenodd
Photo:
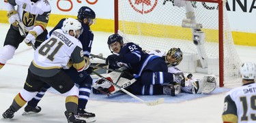
<svg viewBox="0 0 256 123"><path fill-rule="evenodd" d="M255 63L246 62L240 67L240 75L244 80L254 80L256 77Z"/></svg>

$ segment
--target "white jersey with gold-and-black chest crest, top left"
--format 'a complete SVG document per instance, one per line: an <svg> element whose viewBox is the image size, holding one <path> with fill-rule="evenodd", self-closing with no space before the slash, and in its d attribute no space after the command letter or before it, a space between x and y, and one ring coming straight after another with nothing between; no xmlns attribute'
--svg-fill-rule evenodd
<svg viewBox="0 0 256 123"><path fill-rule="evenodd" d="M48 18L51 13L51 5L47 0L39 0L36 3L30 0L5 0L8 11L14 10L17 5L18 16L25 25L25 31L30 31L35 26L46 29Z"/></svg>

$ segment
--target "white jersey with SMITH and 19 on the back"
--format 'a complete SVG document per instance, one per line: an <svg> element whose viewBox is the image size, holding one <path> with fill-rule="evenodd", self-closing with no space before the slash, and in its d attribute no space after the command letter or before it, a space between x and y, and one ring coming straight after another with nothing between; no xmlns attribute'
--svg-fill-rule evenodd
<svg viewBox="0 0 256 123"><path fill-rule="evenodd" d="M233 88L227 92L223 122L256 122L256 83Z"/></svg>

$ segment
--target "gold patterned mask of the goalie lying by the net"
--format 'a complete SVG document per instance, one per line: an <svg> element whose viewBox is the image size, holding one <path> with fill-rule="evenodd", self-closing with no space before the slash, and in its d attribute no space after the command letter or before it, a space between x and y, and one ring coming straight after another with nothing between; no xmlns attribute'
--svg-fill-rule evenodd
<svg viewBox="0 0 256 123"><path fill-rule="evenodd" d="M165 55L165 62L171 66L179 65L183 58L182 55L180 48L171 48Z"/></svg>

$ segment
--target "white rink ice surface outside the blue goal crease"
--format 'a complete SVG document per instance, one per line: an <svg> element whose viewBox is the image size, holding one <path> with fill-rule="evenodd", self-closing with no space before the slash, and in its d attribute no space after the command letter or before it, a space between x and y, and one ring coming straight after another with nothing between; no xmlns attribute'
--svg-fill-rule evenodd
<svg viewBox="0 0 256 123"><path fill-rule="evenodd" d="M0 24L0 48L3 48L9 24ZM48 28L51 29L51 28ZM93 54L111 54L106 40L112 33L94 32ZM236 46L242 62L256 63L256 47ZM33 49L21 43L12 60L0 70L0 113L10 107L14 96L22 90L27 69L33 59ZM240 85L237 85L240 86ZM225 93L213 94L200 99L181 103L163 103L147 106L143 103L115 103L109 101L89 101L87 111L96 113L96 122L100 123L216 123L222 122L223 100ZM171 96L170 96L171 98ZM46 93L39 105L42 111L36 116L21 116L23 108L17 111L12 120L0 116L0 122L67 122L64 116L65 97Z"/></svg>

